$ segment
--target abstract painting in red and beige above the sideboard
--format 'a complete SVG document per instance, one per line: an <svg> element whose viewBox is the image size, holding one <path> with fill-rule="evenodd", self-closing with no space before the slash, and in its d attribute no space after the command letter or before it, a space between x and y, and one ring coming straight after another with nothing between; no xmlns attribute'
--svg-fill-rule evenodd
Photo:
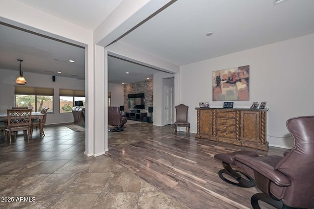
<svg viewBox="0 0 314 209"><path fill-rule="evenodd" d="M250 100L250 66L212 72L212 101Z"/></svg>

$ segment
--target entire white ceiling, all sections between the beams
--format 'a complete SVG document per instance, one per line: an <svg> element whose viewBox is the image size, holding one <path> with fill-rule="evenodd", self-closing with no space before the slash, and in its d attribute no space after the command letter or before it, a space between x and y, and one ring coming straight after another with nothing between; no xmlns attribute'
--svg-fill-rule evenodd
<svg viewBox="0 0 314 209"><path fill-rule="evenodd" d="M19 1L95 29L122 0ZM314 33L313 11L314 0L277 5L274 0L177 0L119 41L185 65ZM206 36L207 32L213 35ZM19 70L17 59L24 60L22 71L84 77L83 48L0 25L0 69ZM156 72L114 57L108 64L111 83L137 82ZM57 70L62 73L56 74Z"/></svg>

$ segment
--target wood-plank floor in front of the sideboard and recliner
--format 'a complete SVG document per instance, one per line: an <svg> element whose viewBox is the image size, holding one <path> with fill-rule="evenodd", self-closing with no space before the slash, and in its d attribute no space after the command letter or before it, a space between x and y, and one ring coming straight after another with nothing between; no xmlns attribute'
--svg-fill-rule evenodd
<svg viewBox="0 0 314 209"><path fill-rule="evenodd" d="M159 134L156 134L156 129ZM126 139L130 143L110 148L112 139L123 140L123 136L127 136L128 132L132 133ZM195 139L194 134L186 137L185 132L176 135L171 125L160 128L145 123L130 125L123 133L109 136L107 155L187 208L247 209L252 208L251 196L260 191L256 187L241 188L222 181L218 177L218 171L223 169L222 163L214 159L217 153L239 150L256 151L260 155L283 155L287 151L270 147L269 151L265 152ZM261 205L263 209L272 208L266 204Z"/></svg>

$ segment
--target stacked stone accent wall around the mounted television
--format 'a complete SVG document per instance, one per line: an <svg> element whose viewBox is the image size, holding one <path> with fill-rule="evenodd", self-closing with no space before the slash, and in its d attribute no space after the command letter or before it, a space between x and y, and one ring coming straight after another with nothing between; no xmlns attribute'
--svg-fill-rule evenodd
<svg viewBox="0 0 314 209"><path fill-rule="evenodd" d="M145 93L145 109L139 109L141 112L148 113L148 107L153 107L154 81L146 80L137 83L124 85L124 111L129 112L128 94Z"/></svg>

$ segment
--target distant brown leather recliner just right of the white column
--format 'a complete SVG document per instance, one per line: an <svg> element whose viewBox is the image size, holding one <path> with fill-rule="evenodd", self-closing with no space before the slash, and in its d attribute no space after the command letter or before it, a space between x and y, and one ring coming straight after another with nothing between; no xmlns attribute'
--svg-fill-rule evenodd
<svg viewBox="0 0 314 209"><path fill-rule="evenodd" d="M123 131L123 125L127 122L127 118L123 117L119 107L108 107L108 125L114 126L114 129L108 132Z"/></svg>

